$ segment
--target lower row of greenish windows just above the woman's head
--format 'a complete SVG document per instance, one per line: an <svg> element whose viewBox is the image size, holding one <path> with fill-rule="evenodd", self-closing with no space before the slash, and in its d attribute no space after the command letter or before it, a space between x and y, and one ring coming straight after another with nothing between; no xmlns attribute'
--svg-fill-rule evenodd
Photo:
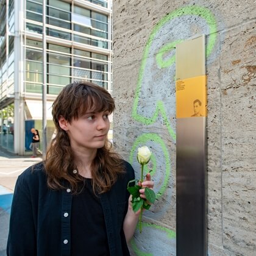
<svg viewBox="0 0 256 256"><path fill-rule="evenodd" d="M40 41L26 40L25 91L40 93L43 74L43 49ZM48 94L58 94L74 80L88 80L108 89L108 55L48 43Z"/></svg>

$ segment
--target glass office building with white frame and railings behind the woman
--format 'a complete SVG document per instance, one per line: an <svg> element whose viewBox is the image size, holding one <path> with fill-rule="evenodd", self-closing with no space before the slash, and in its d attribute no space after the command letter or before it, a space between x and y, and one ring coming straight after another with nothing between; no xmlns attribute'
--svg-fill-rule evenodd
<svg viewBox="0 0 256 256"><path fill-rule="evenodd" d="M0 146L24 155L30 129L42 130L43 85L48 141L64 85L87 80L112 92L112 0L0 0L0 10Z"/></svg>

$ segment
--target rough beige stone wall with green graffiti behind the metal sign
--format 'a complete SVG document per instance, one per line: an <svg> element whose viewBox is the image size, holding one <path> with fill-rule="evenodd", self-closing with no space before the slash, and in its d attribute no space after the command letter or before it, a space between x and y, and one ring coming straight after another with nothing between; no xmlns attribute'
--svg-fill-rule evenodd
<svg viewBox="0 0 256 256"><path fill-rule="evenodd" d="M152 148L157 201L133 255L176 255L175 49L207 38L208 255L256 252L256 3L113 0L114 146L132 163ZM159 54L160 53L160 54Z"/></svg>

